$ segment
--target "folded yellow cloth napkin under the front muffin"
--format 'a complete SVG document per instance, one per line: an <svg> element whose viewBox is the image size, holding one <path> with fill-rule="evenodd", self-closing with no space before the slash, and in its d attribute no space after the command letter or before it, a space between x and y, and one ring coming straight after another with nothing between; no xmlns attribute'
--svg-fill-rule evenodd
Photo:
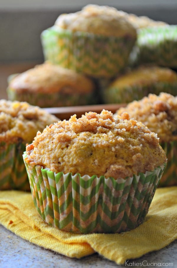
<svg viewBox="0 0 177 268"><path fill-rule="evenodd" d="M98 252L123 264L177 238L177 187L158 188L145 222L121 234L78 235L58 230L40 218L31 193L19 191L0 191L0 223L22 238L60 254L81 258Z"/></svg>

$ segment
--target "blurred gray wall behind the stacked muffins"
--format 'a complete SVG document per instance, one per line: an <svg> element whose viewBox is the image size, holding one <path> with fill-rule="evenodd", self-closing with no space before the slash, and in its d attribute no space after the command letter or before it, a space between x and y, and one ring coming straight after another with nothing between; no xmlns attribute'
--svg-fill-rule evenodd
<svg viewBox="0 0 177 268"><path fill-rule="evenodd" d="M33 60L42 62L42 30L52 26L59 14L78 11L89 3L107 4L129 13L177 24L177 0L0 0L0 63Z"/></svg>

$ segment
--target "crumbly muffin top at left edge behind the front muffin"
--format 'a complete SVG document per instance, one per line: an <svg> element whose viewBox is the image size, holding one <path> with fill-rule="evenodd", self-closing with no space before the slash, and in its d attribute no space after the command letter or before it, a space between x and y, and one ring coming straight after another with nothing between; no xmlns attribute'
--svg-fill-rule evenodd
<svg viewBox="0 0 177 268"><path fill-rule="evenodd" d="M32 142L38 130L58 120L27 102L0 100L0 142Z"/></svg>

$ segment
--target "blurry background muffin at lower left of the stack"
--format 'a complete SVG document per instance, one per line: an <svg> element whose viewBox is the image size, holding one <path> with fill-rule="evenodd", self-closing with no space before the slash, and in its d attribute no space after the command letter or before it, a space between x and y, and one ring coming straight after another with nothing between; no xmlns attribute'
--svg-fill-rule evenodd
<svg viewBox="0 0 177 268"><path fill-rule="evenodd" d="M92 104L93 90L94 83L85 75L45 62L11 76L7 93L11 101L58 107Z"/></svg>

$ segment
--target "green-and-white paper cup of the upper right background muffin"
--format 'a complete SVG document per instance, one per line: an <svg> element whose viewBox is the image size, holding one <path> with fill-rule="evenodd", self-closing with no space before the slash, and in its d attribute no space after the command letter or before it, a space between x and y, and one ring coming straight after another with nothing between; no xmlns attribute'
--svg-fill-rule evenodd
<svg viewBox="0 0 177 268"><path fill-rule="evenodd" d="M177 67L177 25L140 29L135 63Z"/></svg>

